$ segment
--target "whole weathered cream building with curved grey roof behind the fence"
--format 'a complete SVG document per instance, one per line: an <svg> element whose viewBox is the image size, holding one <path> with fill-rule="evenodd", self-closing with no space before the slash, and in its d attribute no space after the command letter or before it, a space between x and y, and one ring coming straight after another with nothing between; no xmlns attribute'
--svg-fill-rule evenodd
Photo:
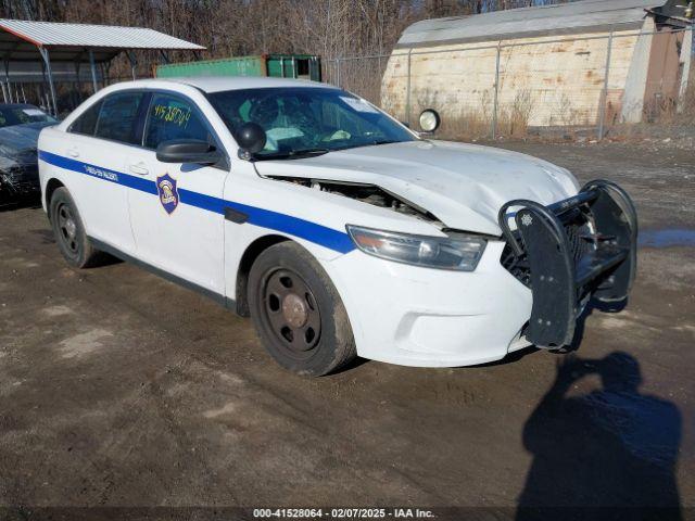
<svg viewBox="0 0 695 521"><path fill-rule="evenodd" d="M582 0L418 22L391 54L382 106L407 120L434 107L493 125L515 111L539 127L640 122L687 85L692 11Z"/></svg>

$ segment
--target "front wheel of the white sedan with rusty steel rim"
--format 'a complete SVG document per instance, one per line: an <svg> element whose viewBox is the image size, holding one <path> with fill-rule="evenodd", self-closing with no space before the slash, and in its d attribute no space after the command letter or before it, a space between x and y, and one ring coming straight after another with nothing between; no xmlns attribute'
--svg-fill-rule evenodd
<svg viewBox="0 0 695 521"><path fill-rule="evenodd" d="M258 336L280 366L319 377L355 358L348 312L336 287L295 242L281 242L258 255L248 291Z"/></svg>

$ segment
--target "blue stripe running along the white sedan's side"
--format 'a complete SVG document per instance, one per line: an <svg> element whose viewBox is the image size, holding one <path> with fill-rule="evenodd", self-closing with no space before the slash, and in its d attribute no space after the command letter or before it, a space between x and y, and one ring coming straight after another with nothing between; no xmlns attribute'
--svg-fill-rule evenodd
<svg viewBox="0 0 695 521"><path fill-rule="evenodd" d="M58 166L59 168L77 171L104 181L114 182L134 190L157 195L156 183L154 181L124 174L122 171L111 170L101 166L90 165L88 163L83 163L81 161L63 157L62 155L52 154L46 151L39 151L38 155L39 160ZM233 201L213 198L191 190L179 189L178 193L181 204L195 206L201 209L214 212L215 214L224 214L226 207L231 207L249 215L248 223L251 225L299 237L339 253L349 253L355 249L355 244L352 242L352 239L350 239L348 233L317 225L309 220L300 219L291 215L280 214L269 209L258 208L256 206L249 206Z"/></svg>

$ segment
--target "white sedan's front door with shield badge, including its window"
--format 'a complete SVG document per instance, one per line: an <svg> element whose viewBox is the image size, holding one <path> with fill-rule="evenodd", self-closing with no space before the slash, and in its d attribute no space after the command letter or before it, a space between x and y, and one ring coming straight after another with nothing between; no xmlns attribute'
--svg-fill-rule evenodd
<svg viewBox="0 0 695 521"><path fill-rule="evenodd" d="M155 149L173 139L215 143L212 127L187 98L152 94L143 148L132 153L126 171L150 182L130 190L128 205L137 256L189 283L224 295L224 215L216 212L228 170L215 166L157 161Z"/></svg>

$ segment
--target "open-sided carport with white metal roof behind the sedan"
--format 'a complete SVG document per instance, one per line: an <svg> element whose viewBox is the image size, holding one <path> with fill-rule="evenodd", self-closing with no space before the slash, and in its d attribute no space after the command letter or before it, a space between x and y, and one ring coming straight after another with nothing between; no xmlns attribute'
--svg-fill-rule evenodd
<svg viewBox="0 0 695 521"><path fill-rule="evenodd" d="M128 55L135 77L135 51L160 51L167 61L169 51L204 49L141 27L0 20L0 86L4 101L12 102L20 101L16 98L25 84L46 84L51 111L56 114L56 82L87 79L96 91L104 79L103 65L122 52Z"/></svg>

